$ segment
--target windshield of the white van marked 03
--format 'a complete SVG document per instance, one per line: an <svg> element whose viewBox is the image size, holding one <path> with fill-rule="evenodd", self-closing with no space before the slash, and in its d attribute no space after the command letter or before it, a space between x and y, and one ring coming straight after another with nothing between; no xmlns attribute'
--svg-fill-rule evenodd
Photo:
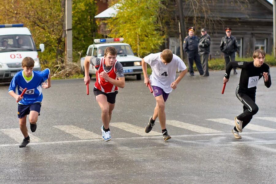
<svg viewBox="0 0 276 184"><path fill-rule="evenodd" d="M0 52L36 51L31 35L1 35Z"/></svg>

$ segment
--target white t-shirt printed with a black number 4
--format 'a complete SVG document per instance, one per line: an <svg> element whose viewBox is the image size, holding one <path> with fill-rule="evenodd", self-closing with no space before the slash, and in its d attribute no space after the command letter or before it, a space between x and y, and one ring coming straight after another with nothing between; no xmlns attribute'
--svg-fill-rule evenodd
<svg viewBox="0 0 276 184"><path fill-rule="evenodd" d="M152 73L150 81L152 86L158 86L164 90L165 93L171 93L171 83L174 82L177 71L186 70L185 63L180 57L173 54L171 63L165 65L161 61L161 52L150 54L144 57L144 61L151 66Z"/></svg>

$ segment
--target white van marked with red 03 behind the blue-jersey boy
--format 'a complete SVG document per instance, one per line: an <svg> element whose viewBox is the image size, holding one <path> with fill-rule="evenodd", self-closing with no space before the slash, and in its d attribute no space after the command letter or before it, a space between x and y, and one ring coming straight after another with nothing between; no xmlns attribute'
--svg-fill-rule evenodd
<svg viewBox="0 0 276 184"><path fill-rule="evenodd" d="M40 71L37 51L44 51L44 44L39 49L32 34L23 24L0 25L0 82L10 82L13 76L23 70L23 58L31 57L35 61L33 70Z"/></svg>

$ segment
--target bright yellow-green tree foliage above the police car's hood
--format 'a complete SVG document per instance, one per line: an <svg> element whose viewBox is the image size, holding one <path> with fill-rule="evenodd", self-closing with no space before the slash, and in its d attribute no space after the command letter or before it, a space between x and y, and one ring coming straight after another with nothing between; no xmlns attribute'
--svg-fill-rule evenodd
<svg viewBox="0 0 276 184"><path fill-rule="evenodd" d="M106 21L109 37L123 37L138 56L156 51L164 43L166 27L162 11L166 7L160 0L119 1L116 17Z"/></svg>

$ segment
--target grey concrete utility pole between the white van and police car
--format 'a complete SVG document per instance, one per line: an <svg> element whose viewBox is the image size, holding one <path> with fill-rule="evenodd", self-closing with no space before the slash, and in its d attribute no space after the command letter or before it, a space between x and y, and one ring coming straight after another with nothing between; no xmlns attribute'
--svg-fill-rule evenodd
<svg viewBox="0 0 276 184"><path fill-rule="evenodd" d="M65 69L67 68L67 61L72 62L73 44L72 44L72 0L65 0L65 43L66 43L66 59Z"/></svg>

